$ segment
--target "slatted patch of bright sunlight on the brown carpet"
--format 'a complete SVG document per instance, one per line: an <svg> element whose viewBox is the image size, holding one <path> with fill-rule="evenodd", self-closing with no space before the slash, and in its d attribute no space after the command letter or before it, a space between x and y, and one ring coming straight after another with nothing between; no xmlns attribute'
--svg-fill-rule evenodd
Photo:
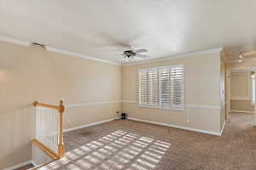
<svg viewBox="0 0 256 170"><path fill-rule="evenodd" d="M69 151L60 160L39 169L154 169L170 145L161 140L118 130Z"/></svg>

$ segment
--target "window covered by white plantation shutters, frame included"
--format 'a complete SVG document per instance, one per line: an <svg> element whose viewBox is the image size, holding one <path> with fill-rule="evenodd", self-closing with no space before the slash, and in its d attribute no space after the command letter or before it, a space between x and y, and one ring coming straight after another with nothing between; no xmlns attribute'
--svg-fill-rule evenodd
<svg viewBox="0 0 256 170"><path fill-rule="evenodd" d="M183 65L138 71L138 105L162 109L184 108Z"/></svg>

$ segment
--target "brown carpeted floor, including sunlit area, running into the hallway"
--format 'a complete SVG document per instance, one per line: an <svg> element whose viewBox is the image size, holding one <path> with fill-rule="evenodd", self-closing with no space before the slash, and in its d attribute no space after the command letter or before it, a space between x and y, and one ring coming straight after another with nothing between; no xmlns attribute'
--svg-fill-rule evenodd
<svg viewBox="0 0 256 170"><path fill-rule="evenodd" d="M255 170L253 115L234 113L223 136L114 121L65 133L67 154L40 169Z"/></svg>

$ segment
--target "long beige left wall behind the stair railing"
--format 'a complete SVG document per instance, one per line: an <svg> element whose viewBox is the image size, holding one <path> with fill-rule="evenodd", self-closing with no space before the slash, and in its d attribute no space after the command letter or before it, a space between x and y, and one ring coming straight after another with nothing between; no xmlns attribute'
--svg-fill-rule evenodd
<svg viewBox="0 0 256 170"><path fill-rule="evenodd" d="M34 100L57 105L122 99L122 68L118 65L55 54L40 47L0 42L0 169L31 159ZM116 116L121 103L69 107L66 127Z"/></svg>

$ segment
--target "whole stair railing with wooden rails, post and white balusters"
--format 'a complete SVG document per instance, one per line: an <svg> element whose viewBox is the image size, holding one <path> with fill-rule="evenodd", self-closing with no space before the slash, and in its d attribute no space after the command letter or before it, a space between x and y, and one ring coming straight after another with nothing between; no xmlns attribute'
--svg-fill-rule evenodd
<svg viewBox="0 0 256 170"><path fill-rule="evenodd" d="M35 101L36 108L36 136L32 144L44 151L52 159L65 156L63 141L63 115L65 106L63 101L59 105L48 105Z"/></svg>

